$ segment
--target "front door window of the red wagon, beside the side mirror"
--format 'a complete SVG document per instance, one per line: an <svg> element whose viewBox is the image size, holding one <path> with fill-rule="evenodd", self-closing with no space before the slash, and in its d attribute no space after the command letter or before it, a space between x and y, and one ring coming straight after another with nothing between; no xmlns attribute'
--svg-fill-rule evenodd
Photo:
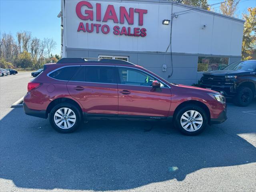
<svg viewBox="0 0 256 192"><path fill-rule="evenodd" d="M152 82L156 80L153 76L136 69L119 67L118 72L120 83L125 85L152 86ZM164 87L164 84L161 83L161 87Z"/></svg>

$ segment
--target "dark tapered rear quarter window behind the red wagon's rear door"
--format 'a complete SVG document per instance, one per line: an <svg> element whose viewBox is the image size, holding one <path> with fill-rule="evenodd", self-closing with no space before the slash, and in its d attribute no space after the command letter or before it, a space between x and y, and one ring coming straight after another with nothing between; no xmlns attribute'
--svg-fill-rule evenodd
<svg viewBox="0 0 256 192"><path fill-rule="evenodd" d="M78 70L80 66L72 66L72 67L64 67L60 68L51 74L49 74L49 77L58 79L58 80L64 80L69 81L70 78L74 75L74 73Z"/></svg>

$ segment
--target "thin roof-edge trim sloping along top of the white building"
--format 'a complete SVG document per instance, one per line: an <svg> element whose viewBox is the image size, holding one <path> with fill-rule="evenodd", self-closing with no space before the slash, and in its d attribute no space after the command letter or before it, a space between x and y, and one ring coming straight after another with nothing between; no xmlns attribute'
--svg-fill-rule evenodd
<svg viewBox="0 0 256 192"><path fill-rule="evenodd" d="M106 2L111 2L112 0L90 0L90 1L106 1ZM115 0L114 2L123 2L123 3L132 3L132 2L139 2L139 3L152 3L152 4L172 4L172 5L175 5L175 6L180 6L180 7L185 7L185 8L189 8L189 9L194 9L196 7L194 6L189 6L189 5L185 5L185 4L182 4L182 3L177 3L175 1L172 1L172 0ZM198 11L198 12L204 12L206 14L211 14L211 15L214 15L214 16L219 16L219 17L223 17L223 18L226 18L226 19L230 19L230 20L234 20L234 21L237 21L237 22L241 22L241 23L244 23L245 20L242 20L242 19L238 19L238 18L234 18L234 17L230 17L230 16L226 16L226 15L223 15L223 14L220 14L220 13L216 13L216 12L212 12L212 11L208 11L208 10L205 10L205 9L198 9L198 10L195 10L195 11Z"/></svg>

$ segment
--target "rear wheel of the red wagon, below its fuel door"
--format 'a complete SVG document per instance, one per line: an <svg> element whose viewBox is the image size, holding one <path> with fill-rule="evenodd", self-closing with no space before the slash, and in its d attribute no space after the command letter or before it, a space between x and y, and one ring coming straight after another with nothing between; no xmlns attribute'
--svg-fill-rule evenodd
<svg viewBox="0 0 256 192"><path fill-rule="evenodd" d="M70 114L68 115L69 112ZM61 113L62 116L60 115ZM66 116L63 116L63 114L66 114ZM81 113L76 106L70 103L60 103L52 108L49 114L49 121L52 128L56 131L60 133L71 133L78 129L81 122Z"/></svg>

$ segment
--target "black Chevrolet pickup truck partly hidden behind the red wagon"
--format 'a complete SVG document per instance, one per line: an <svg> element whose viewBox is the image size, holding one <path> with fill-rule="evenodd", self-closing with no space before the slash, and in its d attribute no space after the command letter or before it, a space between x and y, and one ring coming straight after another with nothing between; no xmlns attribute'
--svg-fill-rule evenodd
<svg viewBox="0 0 256 192"><path fill-rule="evenodd" d="M200 87L221 92L238 106L248 106L256 96L256 60L237 61L223 70L206 71Z"/></svg>

